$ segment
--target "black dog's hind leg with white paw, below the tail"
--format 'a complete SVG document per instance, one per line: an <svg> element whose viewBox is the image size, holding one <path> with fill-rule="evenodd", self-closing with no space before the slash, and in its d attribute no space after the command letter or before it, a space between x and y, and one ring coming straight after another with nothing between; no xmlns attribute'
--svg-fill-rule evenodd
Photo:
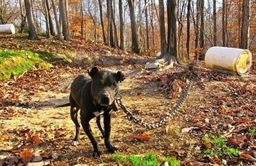
<svg viewBox="0 0 256 166"><path fill-rule="evenodd" d="M75 123L75 138L73 139L73 142L71 143L71 145L76 146L79 141L79 136L80 136L80 124L77 120L78 111L79 111L80 107L75 102L75 100L72 98L72 96L69 97L69 101L71 104L71 110L70 110L71 119Z"/></svg>

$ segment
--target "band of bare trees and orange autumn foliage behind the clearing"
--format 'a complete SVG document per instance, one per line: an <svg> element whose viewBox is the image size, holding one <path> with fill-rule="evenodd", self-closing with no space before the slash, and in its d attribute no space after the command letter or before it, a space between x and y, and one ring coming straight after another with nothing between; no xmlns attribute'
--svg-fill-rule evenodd
<svg viewBox="0 0 256 166"><path fill-rule="evenodd" d="M255 11L250 0L0 0L0 24L14 24L28 39L81 37L194 59L211 46L255 52Z"/></svg>

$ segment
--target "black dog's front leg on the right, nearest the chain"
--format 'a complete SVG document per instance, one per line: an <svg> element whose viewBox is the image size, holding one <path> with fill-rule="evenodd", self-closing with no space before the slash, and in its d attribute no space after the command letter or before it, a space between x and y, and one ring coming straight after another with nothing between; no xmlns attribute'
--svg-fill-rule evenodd
<svg viewBox="0 0 256 166"><path fill-rule="evenodd" d="M106 113L104 114L104 129L105 129L105 136L104 136L104 143L107 149L111 154L118 152L116 147L113 147L110 143L110 133L111 133L111 114Z"/></svg>

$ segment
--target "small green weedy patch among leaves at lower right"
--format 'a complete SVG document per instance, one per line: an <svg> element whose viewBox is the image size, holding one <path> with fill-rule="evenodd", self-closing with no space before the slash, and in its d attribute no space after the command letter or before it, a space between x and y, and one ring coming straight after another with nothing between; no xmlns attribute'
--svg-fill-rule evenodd
<svg viewBox="0 0 256 166"><path fill-rule="evenodd" d="M203 154L208 154L211 157L228 154L229 156L239 156L239 149L228 147L227 138L225 137L210 137L203 138L206 149Z"/></svg>

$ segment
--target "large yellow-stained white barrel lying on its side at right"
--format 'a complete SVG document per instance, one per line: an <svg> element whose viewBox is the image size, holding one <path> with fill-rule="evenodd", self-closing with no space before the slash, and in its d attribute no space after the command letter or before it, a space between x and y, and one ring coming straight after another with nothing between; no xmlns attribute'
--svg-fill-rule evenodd
<svg viewBox="0 0 256 166"><path fill-rule="evenodd" d="M205 53L205 66L244 75L252 66L252 54L246 49L214 46Z"/></svg>

